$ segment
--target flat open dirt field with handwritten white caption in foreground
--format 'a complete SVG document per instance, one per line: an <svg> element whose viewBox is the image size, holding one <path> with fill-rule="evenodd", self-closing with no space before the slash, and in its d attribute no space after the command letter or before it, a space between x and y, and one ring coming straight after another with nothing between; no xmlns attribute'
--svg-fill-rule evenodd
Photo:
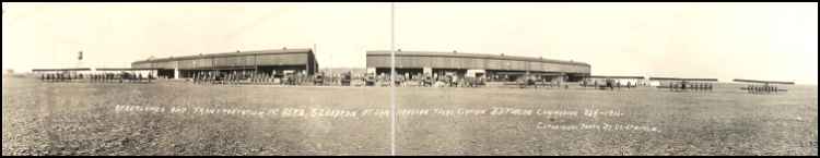
<svg viewBox="0 0 820 158"><path fill-rule="evenodd" d="M818 155L817 86L788 86L788 93L777 95L746 94L738 86L723 84L711 93L651 87L611 92L579 87L403 87L396 95L400 109L455 112L401 114L397 153ZM128 105L362 112L389 109L389 93L384 87L81 84L3 78L2 155L389 155L390 120L384 116L254 117L117 109ZM485 113L469 113L470 109ZM589 110L616 112L585 117ZM548 124L623 124L657 131L555 130Z"/></svg>

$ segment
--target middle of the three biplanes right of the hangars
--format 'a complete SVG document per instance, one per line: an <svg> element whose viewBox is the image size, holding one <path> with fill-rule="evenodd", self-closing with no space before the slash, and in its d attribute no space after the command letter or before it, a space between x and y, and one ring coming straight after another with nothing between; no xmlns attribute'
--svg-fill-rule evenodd
<svg viewBox="0 0 820 158"><path fill-rule="evenodd" d="M649 77L649 81L667 82L657 88L668 88L672 92L681 90L712 90L717 78L679 78L679 77Z"/></svg>

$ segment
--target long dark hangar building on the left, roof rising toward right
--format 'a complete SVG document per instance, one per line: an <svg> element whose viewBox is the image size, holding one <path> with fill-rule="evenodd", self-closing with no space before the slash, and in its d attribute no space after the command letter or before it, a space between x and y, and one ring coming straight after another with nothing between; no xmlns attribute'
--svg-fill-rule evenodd
<svg viewBox="0 0 820 158"><path fill-rule="evenodd" d="M313 75L318 72L319 64L313 49L282 48L149 59L132 62L131 68L153 69L160 77L180 78L206 71Z"/></svg>

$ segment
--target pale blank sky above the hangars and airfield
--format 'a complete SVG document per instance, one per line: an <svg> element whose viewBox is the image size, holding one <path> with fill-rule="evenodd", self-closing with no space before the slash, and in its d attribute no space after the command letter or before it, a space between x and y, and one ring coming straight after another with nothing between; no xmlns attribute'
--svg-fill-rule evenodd
<svg viewBox="0 0 820 158"><path fill-rule="evenodd" d="M591 64L594 75L818 82L818 3L396 3L397 49ZM364 68L390 3L3 3L2 69L316 48ZM78 51L84 59L77 61Z"/></svg>

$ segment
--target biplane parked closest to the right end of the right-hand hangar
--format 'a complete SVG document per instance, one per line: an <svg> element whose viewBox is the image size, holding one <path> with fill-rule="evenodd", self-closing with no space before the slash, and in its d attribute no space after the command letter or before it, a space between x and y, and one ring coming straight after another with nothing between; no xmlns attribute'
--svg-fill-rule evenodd
<svg viewBox="0 0 820 158"><path fill-rule="evenodd" d="M597 89L633 88L645 80L644 76L606 76L590 75L581 81L581 87L594 87Z"/></svg>

